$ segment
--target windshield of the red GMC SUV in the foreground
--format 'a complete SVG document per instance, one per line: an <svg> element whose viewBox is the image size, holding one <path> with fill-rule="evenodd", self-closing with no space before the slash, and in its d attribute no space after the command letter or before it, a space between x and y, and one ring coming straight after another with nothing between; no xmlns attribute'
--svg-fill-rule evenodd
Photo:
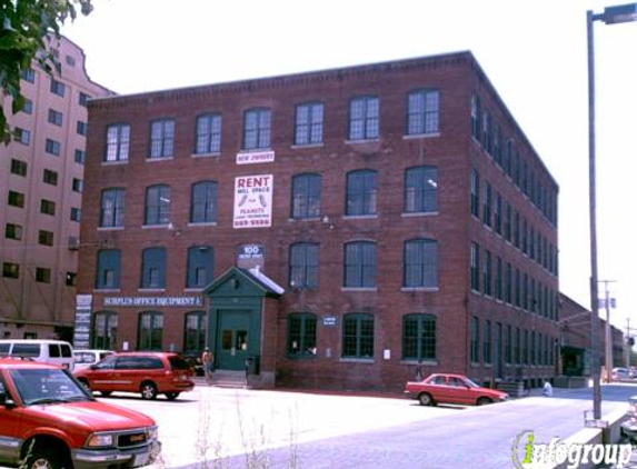
<svg viewBox="0 0 637 469"><path fill-rule="evenodd" d="M10 375L24 406L93 399L62 369L22 368Z"/></svg>

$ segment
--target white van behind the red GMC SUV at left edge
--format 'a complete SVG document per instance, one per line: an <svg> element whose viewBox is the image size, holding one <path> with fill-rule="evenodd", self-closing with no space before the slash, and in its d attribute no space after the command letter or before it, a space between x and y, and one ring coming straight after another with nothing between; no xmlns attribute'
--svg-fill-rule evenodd
<svg viewBox="0 0 637 469"><path fill-rule="evenodd" d="M73 370L73 348L63 340L3 339L0 340L0 357L26 357L34 361L60 365Z"/></svg>

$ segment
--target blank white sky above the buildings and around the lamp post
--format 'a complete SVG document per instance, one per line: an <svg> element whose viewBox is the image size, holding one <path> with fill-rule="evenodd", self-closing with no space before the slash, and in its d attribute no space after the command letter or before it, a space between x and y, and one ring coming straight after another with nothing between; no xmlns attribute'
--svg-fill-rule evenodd
<svg viewBox="0 0 637 469"><path fill-rule="evenodd" d="M91 79L121 94L470 50L559 183L560 290L589 308L586 11L613 4L93 0L62 33L84 50ZM594 31L598 278L614 281L611 322L630 318L637 335L637 22Z"/></svg>

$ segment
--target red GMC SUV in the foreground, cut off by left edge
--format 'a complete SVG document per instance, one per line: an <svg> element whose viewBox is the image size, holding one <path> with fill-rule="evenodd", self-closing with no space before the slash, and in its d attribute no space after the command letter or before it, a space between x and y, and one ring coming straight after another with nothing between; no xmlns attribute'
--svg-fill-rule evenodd
<svg viewBox="0 0 637 469"><path fill-rule="evenodd" d="M0 358L0 466L127 469L160 451L150 417L97 401L58 366Z"/></svg>

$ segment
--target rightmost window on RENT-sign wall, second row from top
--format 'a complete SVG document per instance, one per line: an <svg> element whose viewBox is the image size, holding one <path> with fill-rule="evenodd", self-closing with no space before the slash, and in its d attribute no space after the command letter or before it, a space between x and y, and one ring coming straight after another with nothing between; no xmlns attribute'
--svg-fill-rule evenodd
<svg viewBox="0 0 637 469"><path fill-rule="evenodd" d="M438 168L420 166L405 171L405 212L438 211Z"/></svg>

